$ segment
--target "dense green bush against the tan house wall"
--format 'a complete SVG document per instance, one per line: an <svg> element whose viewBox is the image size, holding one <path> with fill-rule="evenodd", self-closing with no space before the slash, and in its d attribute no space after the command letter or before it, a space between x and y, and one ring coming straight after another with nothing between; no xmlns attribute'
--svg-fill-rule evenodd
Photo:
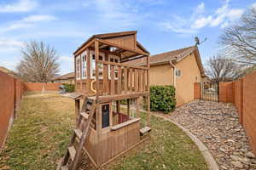
<svg viewBox="0 0 256 170"><path fill-rule="evenodd" d="M176 106L175 88L173 86L150 87L150 110L168 113Z"/></svg>

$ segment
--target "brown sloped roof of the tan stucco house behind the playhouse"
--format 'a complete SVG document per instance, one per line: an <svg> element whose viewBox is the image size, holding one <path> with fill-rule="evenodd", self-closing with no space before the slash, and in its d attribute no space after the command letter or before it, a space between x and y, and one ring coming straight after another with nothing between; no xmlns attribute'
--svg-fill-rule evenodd
<svg viewBox="0 0 256 170"><path fill-rule="evenodd" d="M151 55L149 57L150 66L166 65L166 64L170 64L170 61L173 61L173 64L175 64L192 53L195 53L195 59L201 71L201 76L205 77L205 71L201 63L200 53L196 46L191 46L188 48L180 48L180 49L162 53L162 54ZM146 65L146 62L147 62L146 58L141 58L141 59L131 60L128 63L133 65Z"/></svg>

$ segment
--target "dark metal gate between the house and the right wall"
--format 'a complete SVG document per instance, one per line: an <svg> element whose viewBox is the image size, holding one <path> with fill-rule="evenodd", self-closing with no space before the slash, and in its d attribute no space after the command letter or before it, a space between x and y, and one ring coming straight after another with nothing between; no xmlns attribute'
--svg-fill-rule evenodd
<svg viewBox="0 0 256 170"><path fill-rule="evenodd" d="M200 99L218 101L218 82L201 82Z"/></svg>

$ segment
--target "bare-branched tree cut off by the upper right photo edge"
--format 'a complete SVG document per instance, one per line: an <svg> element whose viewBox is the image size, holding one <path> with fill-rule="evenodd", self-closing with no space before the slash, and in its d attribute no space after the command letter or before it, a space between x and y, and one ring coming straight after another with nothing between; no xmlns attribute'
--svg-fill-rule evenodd
<svg viewBox="0 0 256 170"><path fill-rule="evenodd" d="M220 37L220 44L238 64L256 65L256 8L250 8L239 22L227 28Z"/></svg>

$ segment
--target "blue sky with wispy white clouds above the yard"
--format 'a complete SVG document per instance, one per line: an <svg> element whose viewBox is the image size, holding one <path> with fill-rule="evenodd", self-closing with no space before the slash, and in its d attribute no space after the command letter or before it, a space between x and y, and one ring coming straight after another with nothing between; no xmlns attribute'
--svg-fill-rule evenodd
<svg viewBox="0 0 256 170"><path fill-rule="evenodd" d="M219 50L218 37L255 0L1 0L0 65L15 69L23 42L56 48L61 73L73 71L73 51L92 34L137 30L151 54L194 45L206 61Z"/></svg>

